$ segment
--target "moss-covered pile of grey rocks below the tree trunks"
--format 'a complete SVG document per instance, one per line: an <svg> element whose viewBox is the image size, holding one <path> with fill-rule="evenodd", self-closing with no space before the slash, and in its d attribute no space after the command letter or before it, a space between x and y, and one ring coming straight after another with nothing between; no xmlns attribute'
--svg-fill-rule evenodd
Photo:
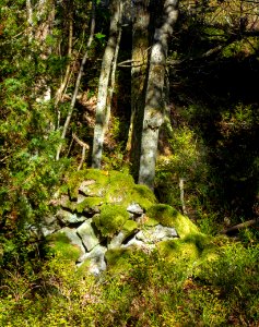
<svg viewBox="0 0 259 327"><path fill-rule="evenodd" d="M117 171L87 169L74 172L56 194L57 214L45 220L43 233L64 234L80 250L76 265L85 261L90 271L106 269L106 253L138 247L151 251L157 242L179 238L181 216L132 178ZM180 228L179 228L180 229Z"/></svg>

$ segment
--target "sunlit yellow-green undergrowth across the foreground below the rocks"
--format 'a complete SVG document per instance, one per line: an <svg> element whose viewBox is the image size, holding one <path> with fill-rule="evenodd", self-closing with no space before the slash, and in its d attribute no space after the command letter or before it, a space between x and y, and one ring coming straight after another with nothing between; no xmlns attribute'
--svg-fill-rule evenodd
<svg viewBox="0 0 259 327"><path fill-rule="evenodd" d="M258 326L258 244L215 243L199 266L136 252L97 278L61 253L40 268L16 261L1 269L0 326Z"/></svg>

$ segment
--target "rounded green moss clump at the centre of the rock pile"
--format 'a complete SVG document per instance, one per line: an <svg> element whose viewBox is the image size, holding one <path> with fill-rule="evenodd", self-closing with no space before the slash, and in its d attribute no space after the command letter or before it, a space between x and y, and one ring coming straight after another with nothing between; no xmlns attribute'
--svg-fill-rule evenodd
<svg viewBox="0 0 259 327"><path fill-rule="evenodd" d="M93 218L93 222L104 237L113 237L129 219L129 214L121 205L103 205L101 214Z"/></svg>

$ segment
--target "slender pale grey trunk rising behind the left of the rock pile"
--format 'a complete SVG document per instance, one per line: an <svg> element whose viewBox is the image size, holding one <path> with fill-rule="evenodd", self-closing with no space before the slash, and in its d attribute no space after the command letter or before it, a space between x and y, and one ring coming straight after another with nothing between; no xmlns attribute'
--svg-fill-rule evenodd
<svg viewBox="0 0 259 327"><path fill-rule="evenodd" d="M101 168L105 130L108 123L108 112L107 112L108 86L109 86L113 60L116 51L116 45L119 38L118 37L119 28L120 28L119 25L121 23L121 16L122 16L122 1L113 0L110 9L111 9L111 17L110 17L109 39L105 48L102 69L101 69L97 106L96 106L96 114L95 114L94 140L93 140L92 167L97 169Z"/></svg>

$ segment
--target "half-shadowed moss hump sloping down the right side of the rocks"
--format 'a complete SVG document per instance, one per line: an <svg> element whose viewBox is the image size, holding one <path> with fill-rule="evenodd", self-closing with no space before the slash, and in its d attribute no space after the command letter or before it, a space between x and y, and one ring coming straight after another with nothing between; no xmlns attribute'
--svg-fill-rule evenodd
<svg viewBox="0 0 259 327"><path fill-rule="evenodd" d="M188 217L183 216L169 205L153 205L146 211L146 216L157 220L163 226L174 227L180 238L199 233L197 226Z"/></svg>

